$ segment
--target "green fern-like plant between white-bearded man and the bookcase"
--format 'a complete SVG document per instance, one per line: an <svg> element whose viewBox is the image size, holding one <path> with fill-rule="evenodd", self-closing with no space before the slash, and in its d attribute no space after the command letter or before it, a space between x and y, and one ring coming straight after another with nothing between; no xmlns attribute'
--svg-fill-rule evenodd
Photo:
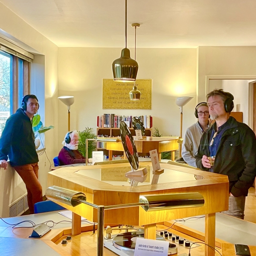
<svg viewBox="0 0 256 256"><path fill-rule="evenodd" d="M96 135L93 133L93 128L85 128L84 131L79 131L78 136L78 151L83 156L86 157L86 139L93 139ZM96 141L88 141L88 158L91 158L93 151L96 150Z"/></svg>

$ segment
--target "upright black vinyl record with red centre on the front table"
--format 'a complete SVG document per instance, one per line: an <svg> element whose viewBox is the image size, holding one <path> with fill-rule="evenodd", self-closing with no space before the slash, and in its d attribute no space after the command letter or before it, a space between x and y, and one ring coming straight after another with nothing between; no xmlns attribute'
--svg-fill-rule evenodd
<svg viewBox="0 0 256 256"><path fill-rule="evenodd" d="M120 135L125 154L134 170L139 168L139 157L131 132L124 121L120 122Z"/></svg>

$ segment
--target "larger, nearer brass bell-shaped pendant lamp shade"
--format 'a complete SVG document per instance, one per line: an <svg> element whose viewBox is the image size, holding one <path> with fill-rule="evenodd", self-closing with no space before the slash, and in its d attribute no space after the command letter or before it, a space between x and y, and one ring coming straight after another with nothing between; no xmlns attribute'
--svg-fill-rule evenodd
<svg viewBox="0 0 256 256"><path fill-rule="evenodd" d="M136 81L138 68L137 61L130 57L130 50L124 48L121 57L113 61L113 79L117 82Z"/></svg>

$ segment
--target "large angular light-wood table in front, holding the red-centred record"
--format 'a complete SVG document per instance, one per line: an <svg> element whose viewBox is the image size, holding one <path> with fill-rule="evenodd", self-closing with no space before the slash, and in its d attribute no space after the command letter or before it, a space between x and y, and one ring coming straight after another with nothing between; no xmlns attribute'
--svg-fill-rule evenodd
<svg viewBox="0 0 256 256"><path fill-rule="evenodd" d="M155 239L156 223L205 214L205 242L214 247L215 212L228 209L228 177L183 166L160 165L164 173L159 175L158 183L152 185L154 175L152 175L151 163L148 162L140 163L140 167L148 166L150 177L145 183L139 183L139 186L130 186L125 178L125 173L131 170L128 163L60 168L48 173L48 185L83 192L88 202L103 206L138 203L140 195L201 193L204 196L203 207L149 212L145 212L142 207L110 209L105 211L104 221L111 224L144 226L145 238ZM70 209L74 217L80 215L90 221L97 221L97 209L93 207L85 204L70 207L55 202ZM79 221L79 218L77 219ZM74 224L75 227L76 224ZM215 253L206 246L205 255L214 256Z"/></svg>

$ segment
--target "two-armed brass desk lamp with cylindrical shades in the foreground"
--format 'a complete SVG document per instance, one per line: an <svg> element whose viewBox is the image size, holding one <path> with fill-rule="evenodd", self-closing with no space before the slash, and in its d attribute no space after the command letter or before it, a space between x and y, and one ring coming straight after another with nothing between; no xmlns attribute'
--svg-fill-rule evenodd
<svg viewBox="0 0 256 256"><path fill-rule="evenodd" d="M139 202L109 206L90 203L87 201L86 195L84 193L73 191L70 189L64 189L58 186L51 186L47 188L47 190L45 191L45 195L49 200L58 201L72 207L76 207L77 205L82 203L87 204L88 206L96 208L98 210L97 256L103 256L105 210L141 206L146 212L150 212L204 206L204 197L198 192L153 196L145 195L138 198Z"/></svg>

